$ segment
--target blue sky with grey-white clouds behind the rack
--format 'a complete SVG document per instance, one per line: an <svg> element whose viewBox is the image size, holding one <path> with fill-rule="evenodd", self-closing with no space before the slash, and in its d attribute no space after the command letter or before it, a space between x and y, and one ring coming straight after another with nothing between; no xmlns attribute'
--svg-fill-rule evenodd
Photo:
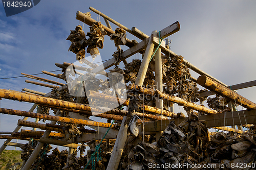
<svg viewBox="0 0 256 170"><path fill-rule="evenodd" d="M179 21L181 29L172 39L171 50L188 62L227 85L256 80L256 1L41 1L23 13L6 17L0 4L0 78L37 74L41 70L59 70L55 63L76 61L68 52L70 30L83 23L75 19L77 11L89 12L92 6L127 28L136 27L147 35ZM104 20L91 12L92 18ZM112 29L116 28L111 23ZM89 26L84 25L84 32ZM127 38L136 39L127 33ZM126 47L122 47L124 50ZM102 60L116 51L105 37L100 50ZM133 58L140 58L134 55ZM60 71L55 72L60 74ZM199 75L191 71L193 77ZM39 75L54 81L62 80ZM26 78L0 79L0 88L20 91L29 88L41 92L50 89L25 83ZM256 87L238 90L256 102ZM32 104L3 99L0 107L29 110ZM179 108L178 108L179 109ZM179 111L179 110L177 110ZM0 115L0 131L13 131L18 116ZM33 119L31 119L33 121ZM0 145L5 140L0 139ZM13 149L11 147L7 149Z"/></svg>

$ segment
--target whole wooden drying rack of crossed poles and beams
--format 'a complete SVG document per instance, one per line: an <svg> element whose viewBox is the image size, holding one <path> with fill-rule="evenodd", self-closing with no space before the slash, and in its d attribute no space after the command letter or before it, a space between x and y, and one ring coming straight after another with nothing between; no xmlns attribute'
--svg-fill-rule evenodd
<svg viewBox="0 0 256 170"><path fill-rule="evenodd" d="M114 30L112 30L112 28L110 26L110 23L109 23L109 21L110 21L110 22L114 23L116 26L122 28L126 32L131 33L132 35L136 36L137 38L139 38L141 40L141 42L134 44L131 40L126 39L127 43L125 45L128 46L129 49L122 53L121 61L123 61L124 64L126 64L127 62L125 59L133 56L136 53L142 53L142 50L145 50L144 57L143 57L143 60L142 60L142 63L141 63L141 66L140 66L140 69L138 72L138 77L135 82L136 85L130 85L127 87L128 89L136 88L137 90L140 90L140 91L143 89L143 93L147 92L148 94L151 94L151 95L153 95L153 93L154 94L158 93L162 97L161 99L169 100L173 103L178 103L179 105L190 107L195 110L203 111L203 112L207 113L207 115L199 116L199 119L206 120L208 122L208 125L207 125L208 128L216 127L217 129L222 129L222 130L226 130L226 131L235 131L237 133L243 133L242 129L234 129L233 125L241 125L242 124L243 126L249 127L249 126L251 126L249 124L256 123L256 110L255 110L256 105L253 102L245 99L243 96L239 95L238 93L232 91L232 90L237 90L237 89L241 89L241 88L255 86L256 81L251 81L251 82L242 83L242 84L233 85L233 86L227 86L226 84L220 82L216 78L208 75L206 72L200 70L193 64L191 64L188 61L186 61L185 59L183 59L183 63L188 68L190 68L191 70L202 75L198 79L191 77L191 80L193 80L194 82L209 89L209 91L201 92L199 98L203 97L203 96L208 96L208 95L218 93L221 96L223 96L224 98L230 99L231 101L236 100L238 104L241 104L243 107L248 109L248 110L241 110L241 111L225 112L225 122L224 122L224 114L223 113L219 113L216 110L208 109L204 106L186 102L186 101L182 100L181 98L169 96L167 94L162 93L161 92L162 91L161 53L168 55L168 56L172 56L172 57L176 56L176 54L174 52L172 52L168 48L166 48L164 41L161 42L161 44L155 54L156 83L158 84L158 86L156 86L156 90L142 88L141 86L143 85L143 82L144 82L146 70L148 68L148 64L149 64L151 56L153 54L153 49L155 46L159 45L159 32L153 31L152 34L150 36L148 36L135 27L133 27L131 30L126 28L125 26L121 25L117 21L102 14L101 12L97 11L96 9L94 9L92 7L90 7L89 9L104 18L106 26L103 25L103 29L107 32L108 36L110 36L112 33L114 33ZM91 18L89 15L86 15L85 13L82 13L80 11L78 11L76 13L76 19L86 23L89 26L92 26L93 22L96 22L96 20ZM177 22L173 23L172 25L166 27L165 29L161 30L160 37L166 38L166 37L178 32L179 30L180 30L180 24L177 21ZM114 65L114 61L115 61L115 59L112 58L109 61L104 62L102 65L100 65L98 67L95 65L92 65L92 68L87 68L87 69L88 69L88 71L92 71L95 74L103 74L103 73L105 73L104 72L105 69L108 69ZM69 65L70 65L70 63L67 63L67 62L64 62L63 64L56 63L56 66L58 66L62 69L66 69ZM84 70L83 67L80 69ZM49 76L61 79L61 75L55 75L48 71L42 71L42 72ZM58 88L59 91L63 90L63 89L67 89L67 84L55 82L55 81L48 80L48 79L43 79L40 77L35 77L32 75L27 75L27 74L23 74L23 75L25 75L25 77L27 77L27 78L44 81L44 82L51 83L54 85L49 85L49 84L45 84L45 83L38 83L38 82L26 80L26 82L28 82L28 83L33 83L33 84L37 84L40 86L46 86L46 87L50 87L50 88L56 87L56 88ZM230 88L232 90L230 90ZM97 129L97 131L101 134L105 134L108 127L110 126L110 124L108 124L108 123L94 122L93 120L81 115L81 114L86 114L86 115L92 116L90 113L90 111L91 111L90 106L80 104L79 98L77 100L77 103L73 103L73 102L66 102L66 101L51 99L51 98L49 98L51 92L42 93L42 92L38 92L38 91L26 89L26 88L23 88L22 90L26 91L26 92L22 93L22 92L13 91L13 90L0 89L0 98L34 103L32 108L28 112L0 108L1 113L25 116L23 118L23 120L19 120L18 126L15 128L15 130L13 132L0 132L2 134L8 134L8 133L11 134L9 136L8 135L0 135L1 138L7 139L5 141L5 143L2 145L2 147L0 148L0 153L2 153L4 151L4 149L6 148L7 145L10 145L13 147L20 147L22 145L20 143L11 142L11 139L19 138L19 139L29 140L29 138L26 137L26 135L24 137L22 137L22 134L30 134L30 135L36 134L37 136L39 135L40 136L40 137L38 137L39 143L37 144L33 153L29 157L28 161L24 162L23 168L22 168L23 170L27 170L30 168L30 166L32 165L33 161L35 160L36 156L38 155L38 153L44 143L57 144L57 145L69 147L70 148L69 154L71 154L74 152L74 149L77 148L78 142L92 140L93 138L96 140L101 139L100 137L98 137L98 135L95 136L92 133L91 134L84 133L81 137L76 138L75 141L71 141L71 142L63 141L63 140L56 140L56 139L49 139L48 138L49 135L50 136L61 136L62 135L61 133L51 133L51 131L60 131L59 130L60 127L58 125L55 125L57 121L87 125L88 127ZM110 96L107 96L105 94L98 93L98 92L92 92L92 93L94 93L95 96L100 96L101 98L108 98L109 100L112 100ZM174 118L173 120L175 120L176 124L181 123L185 119L185 118L177 118L177 114L170 112L170 111L163 110L163 100L161 100L161 99L156 100L156 107L150 107L150 106L146 106L146 105L143 106L144 110L146 110L148 112L152 112L154 114L135 113L139 117L144 116L144 118L147 118L148 120L149 119L155 120L155 121L147 120L146 122L144 122L144 134L156 134L157 137L159 137L161 135L160 131L164 130L166 128L166 126L168 125L168 123L170 121L169 117ZM124 102L124 104L123 104L124 106L128 106L128 104L129 104L129 101L122 101L122 102ZM57 108L59 110L69 111L69 116L72 118L59 117L58 116L59 111L55 114L55 116L33 113L33 111L37 105L48 106L51 108ZM119 131L110 129L109 133L106 135L106 139L116 138L112 156L109 160L110 163L109 163L107 169L108 170L117 169L121 155L122 155L122 150L123 150L126 138L127 138L127 128L128 127L127 127L127 125L125 125L127 111L122 111L122 110L117 110L117 109L113 109L112 111L108 111L108 112L105 112L104 110L97 110L97 111L101 113L101 114L97 115L98 117L122 120L122 124L121 124ZM103 112L105 112L105 113L103 113ZM162 114L162 115L160 115L160 114ZM240 115L243 115L243 116L240 116ZM26 121L28 117L36 118L36 123L31 123L31 122ZM39 124L38 123L39 118L51 120L51 123L46 124L46 125ZM224 125L232 126L232 128L223 127ZM43 132L43 133L42 132L33 132L33 131L28 132L28 131L22 130L20 132L20 134L17 133L22 126L34 127L33 130L35 130L36 128L41 128L41 129L44 129L45 132ZM95 127L97 127L97 128L95 128ZM140 131L140 133L142 134L141 131ZM15 137L14 134L19 134L19 136ZM100 135L100 136L103 136L103 135Z"/></svg>

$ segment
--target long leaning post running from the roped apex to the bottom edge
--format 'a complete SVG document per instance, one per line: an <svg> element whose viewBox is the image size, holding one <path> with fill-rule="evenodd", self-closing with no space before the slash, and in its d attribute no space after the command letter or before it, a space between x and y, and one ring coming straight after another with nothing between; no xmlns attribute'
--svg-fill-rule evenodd
<svg viewBox="0 0 256 170"><path fill-rule="evenodd" d="M153 33L155 33L156 31L153 31ZM138 77L135 81L135 84L142 86L144 79L145 79L145 75L146 75L146 71L148 68L148 64L150 63L150 59L152 56L152 52L154 49L154 44L152 43L152 37L150 38L150 40L148 41L147 47L146 47L146 51L139 69L139 73L138 73ZM126 120L126 116L123 116L123 120L122 120L122 124L120 127L120 130L118 132L117 138L116 138L116 142L110 157L110 161L108 164L108 167L106 168L106 170L117 170L121 156L122 156L122 152L123 152L123 148L125 145L125 141L127 139L127 129L128 129L128 125L125 124L125 120Z"/></svg>

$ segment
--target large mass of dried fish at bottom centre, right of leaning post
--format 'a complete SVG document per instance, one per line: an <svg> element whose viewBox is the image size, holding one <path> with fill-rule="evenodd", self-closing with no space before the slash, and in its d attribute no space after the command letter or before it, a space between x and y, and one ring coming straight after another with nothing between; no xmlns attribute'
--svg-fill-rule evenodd
<svg viewBox="0 0 256 170"><path fill-rule="evenodd" d="M120 163L121 169L175 169L157 165L199 163L206 152L202 145L207 144L209 135L205 122L199 120L195 113L191 113L178 126L174 121L170 122L158 141L148 141L151 143L137 141L138 144L131 150L125 150ZM152 168L152 165L156 168Z"/></svg>

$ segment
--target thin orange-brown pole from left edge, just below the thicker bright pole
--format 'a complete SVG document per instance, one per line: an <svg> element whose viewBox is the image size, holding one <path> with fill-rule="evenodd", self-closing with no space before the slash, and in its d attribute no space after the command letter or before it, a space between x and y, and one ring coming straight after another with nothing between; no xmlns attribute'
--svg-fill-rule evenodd
<svg viewBox="0 0 256 170"><path fill-rule="evenodd" d="M93 121L81 120L81 119L77 119L77 118L52 116L52 115L32 113L32 112L20 111L20 110L4 109L4 108L0 108L0 112L4 113L4 114L11 114L11 115L17 115L17 116L27 116L27 117L46 119L46 120L52 120L52 121L57 121L57 122L72 123L72 124L99 126L99 127L107 127L107 128L110 127L110 125L111 125L111 124L108 124L108 123L93 122Z"/></svg>

